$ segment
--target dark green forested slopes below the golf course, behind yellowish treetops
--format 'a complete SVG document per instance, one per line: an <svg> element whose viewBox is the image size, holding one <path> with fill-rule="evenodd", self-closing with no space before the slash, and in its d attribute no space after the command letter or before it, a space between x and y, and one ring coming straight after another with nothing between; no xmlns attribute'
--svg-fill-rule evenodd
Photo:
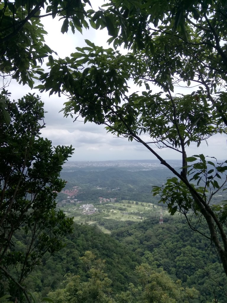
<svg viewBox="0 0 227 303"><path fill-rule="evenodd" d="M67 277L70 281L72 276L69 274L80 276L80 283L88 282L88 268L84 267L80 257L91 251L96 259L105 261L103 270L111 280L111 299L116 302L121 302L118 296L123 296L122 292L130 292L135 302L142 300L141 293L138 295L137 291L137 297L136 291L130 291L130 283L134 288L143 287L140 275L135 272L142 263L148 264L150 271L156 274L164 270L163 279L167 279L165 275L168 274L178 289L179 280L185 289L194 287L198 293L194 292L195 298L188 298L190 303L206 303L214 299L225 303L227 300L225 274L214 248L208 239L183 224L179 216L165 218L162 225L152 220L125 224L114 228L111 235L102 233L97 227L75 225L65 244L61 252L43 261L25 281L32 291L44 296L61 289L61 281ZM94 287L98 288L98 285ZM126 297L125 300L127 302Z"/></svg>

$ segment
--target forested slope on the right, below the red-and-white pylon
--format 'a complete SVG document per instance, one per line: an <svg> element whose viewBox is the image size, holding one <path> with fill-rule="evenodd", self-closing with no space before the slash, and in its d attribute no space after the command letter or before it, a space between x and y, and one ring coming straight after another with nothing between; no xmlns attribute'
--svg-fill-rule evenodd
<svg viewBox="0 0 227 303"><path fill-rule="evenodd" d="M181 280L184 288L196 288L198 298L191 302L205 303L216 298L224 303L227 295L225 273L209 239L195 234L179 215L165 216L163 221L162 225L145 220L127 228L117 228L111 236L142 256L151 270L164 270L174 281ZM196 221L192 218L192 224ZM208 236L205 220L201 223L199 230Z"/></svg>

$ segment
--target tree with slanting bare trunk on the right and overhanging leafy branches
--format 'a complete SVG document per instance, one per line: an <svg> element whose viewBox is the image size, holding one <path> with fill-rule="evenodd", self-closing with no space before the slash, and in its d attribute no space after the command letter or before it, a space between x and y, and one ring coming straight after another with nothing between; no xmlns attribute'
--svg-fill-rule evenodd
<svg viewBox="0 0 227 303"><path fill-rule="evenodd" d="M227 162L187 155L192 143L199 146L227 131L225 1L112 0L88 15L94 28L107 28L114 49L86 40L87 47L77 48L71 58L49 61L50 71L40 76L38 88L67 94L66 116L81 116L140 142L169 168L176 177L154 188L154 194L171 214L185 215L195 231L202 232L190 223L190 214L205 219L227 275L226 205L212 205L226 183ZM128 52L122 55L119 46ZM143 92L130 94L129 81ZM152 92L153 84L160 92ZM177 87L184 85L195 91L179 94ZM181 172L153 145L176 151Z"/></svg>

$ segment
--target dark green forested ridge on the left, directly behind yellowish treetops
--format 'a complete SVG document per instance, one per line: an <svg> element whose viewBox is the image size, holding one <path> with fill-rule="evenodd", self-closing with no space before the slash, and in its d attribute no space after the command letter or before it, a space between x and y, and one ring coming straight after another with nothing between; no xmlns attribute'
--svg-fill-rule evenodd
<svg viewBox="0 0 227 303"><path fill-rule="evenodd" d="M129 283L137 285L134 268L140 265L140 256L95 226L74 224L73 227L72 234L64 238L65 247L48 260L43 258L26 278L28 289L46 296L50 290L60 287L65 274L80 275L81 281L86 281L86 270L79 258L87 250L105 261L104 273L113 281L114 292L126 290Z"/></svg>

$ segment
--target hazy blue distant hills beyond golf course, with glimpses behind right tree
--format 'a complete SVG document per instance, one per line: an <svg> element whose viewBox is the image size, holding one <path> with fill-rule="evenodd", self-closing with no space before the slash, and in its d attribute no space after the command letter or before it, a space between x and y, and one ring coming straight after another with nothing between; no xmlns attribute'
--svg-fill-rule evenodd
<svg viewBox="0 0 227 303"><path fill-rule="evenodd" d="M170 162L176 170L180 171L181 161ZM134 200L157 204L160 198L151 194L153 186L164 185L167 178L172 176L163 165L156 162L154 165L153 161L149 160L124 161L123 163L112 161L111 163L114 164L114 167L108 166L108 162L103 161L94 162L92 166L86 162L78 162L76 167L74 162L69 162L61 172L61 177L67 180L65 189L70 190L74 186L80 187L76 195L79 201L96 203L99 201L99 197L104 197L117 198L118 201ZM227 198L225 191L221 194L221 196L218 193L214 195L212 204ZM66 195L58 195L59 201L65 198Z"/></svg>

